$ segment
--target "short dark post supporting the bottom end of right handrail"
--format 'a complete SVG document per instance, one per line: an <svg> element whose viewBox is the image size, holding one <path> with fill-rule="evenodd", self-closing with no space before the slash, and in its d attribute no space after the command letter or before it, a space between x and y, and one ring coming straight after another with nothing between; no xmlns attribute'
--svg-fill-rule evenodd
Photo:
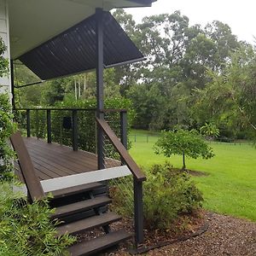
<svg viewBox="0 0 256 256"><path fill-rule="evenodd" d="M143 243L143 182L133 177L135 245Z"/></svg>

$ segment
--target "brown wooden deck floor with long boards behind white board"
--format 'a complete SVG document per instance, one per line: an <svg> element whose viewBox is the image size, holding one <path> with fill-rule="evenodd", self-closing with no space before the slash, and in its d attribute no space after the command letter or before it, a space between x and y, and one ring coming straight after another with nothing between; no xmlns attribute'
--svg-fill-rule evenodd
<svg viewBox="0 0 256 256"><path fill-rule="evenodd" d="M73 151L67 146L46 143L35 137L23 139L40 180L97 170L96 154Z"/></svg>

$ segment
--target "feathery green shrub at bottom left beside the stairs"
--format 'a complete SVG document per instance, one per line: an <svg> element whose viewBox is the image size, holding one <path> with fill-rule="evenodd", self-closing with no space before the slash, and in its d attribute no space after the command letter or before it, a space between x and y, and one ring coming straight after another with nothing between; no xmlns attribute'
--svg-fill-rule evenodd
<svg viewBox="0 0 256 256"><path fill-rule="evenodd" d="M57 237L49 218L54 210L48 201L28 204L20 193L14 191L16 183L0 183L0 255L3 256L57 256L75 239Z"/></svg>

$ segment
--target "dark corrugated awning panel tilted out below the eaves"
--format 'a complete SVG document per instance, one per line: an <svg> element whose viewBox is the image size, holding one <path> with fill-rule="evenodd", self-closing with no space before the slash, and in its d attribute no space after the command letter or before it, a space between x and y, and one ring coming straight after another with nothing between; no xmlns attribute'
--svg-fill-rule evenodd
<svg viewBox="0 0 256 256"><path fill-rule="evenodd" d="M103 14L104 65L138 61L143 54L109 12ZM54 79L96 68L96 15L18 58L40 79Z"/></svg>

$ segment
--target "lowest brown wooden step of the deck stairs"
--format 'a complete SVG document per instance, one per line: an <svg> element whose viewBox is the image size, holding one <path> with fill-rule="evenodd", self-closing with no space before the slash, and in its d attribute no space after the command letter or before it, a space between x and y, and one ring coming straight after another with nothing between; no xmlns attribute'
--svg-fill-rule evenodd
<svg viewBox="0 0 256 256"><path fill-rule="evenodd" d="M99 253L108 247L113 247L114 245L119 244L119 242L125 241L129 238L131 238L131 235L123 230L114 231L90 241L79 242L72 247L69 247L68 251L72 256L91 255Z"/></svg>

